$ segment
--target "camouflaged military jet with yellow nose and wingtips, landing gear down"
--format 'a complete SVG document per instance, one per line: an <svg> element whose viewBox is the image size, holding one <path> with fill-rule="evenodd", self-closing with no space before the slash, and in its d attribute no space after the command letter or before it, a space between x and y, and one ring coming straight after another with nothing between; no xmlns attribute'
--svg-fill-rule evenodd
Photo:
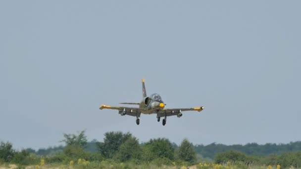
<svg viewBox="0 0 301 169"><path fill-rule="evenodd" d="M145 89L145 81L142 80L142 93L143 99L141 103L119 103L119 104L130 104L130 105L139 105L139 107L113 107L108 105L101 105L100 110L102 109L113 109L118 110L121 116L129 115L134 116L137 118L136 124L139 125L140 123L140 115L141 114L156 114L157 121L160 122L160 118L164 117L162 120L162 125L165 126L166 124L166 117L167 116L177 116L178 118L182 117L182 112L184 111L198 111L201 112L204 107L197 107L197 108L183 108L183 109L164 109L165 105L162 98L159 94L151 94L147 96L147 92Z"/></svg>

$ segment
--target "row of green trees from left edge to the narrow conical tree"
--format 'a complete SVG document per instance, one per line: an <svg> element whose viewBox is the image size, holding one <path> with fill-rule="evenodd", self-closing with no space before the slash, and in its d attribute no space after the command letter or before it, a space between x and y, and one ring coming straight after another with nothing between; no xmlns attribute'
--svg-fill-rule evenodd
<svg viewBox="0 0 301 169"><path fill-rule="evenodd" d="M85 159L87 161L102 161L111 159L117 162L153 163L157 165L172 165L173 163L194 164L197 162L197 153L194 146L184 139L180 146L175 147L167 138L156 138L140 144L131 133L110 131L104 134L103 142L87 141L85 131L78 135L64 134L61 142L65 146L49 149L25 149L17 152L12 149L11 143L0 143L0 162L22 165L34 164L44 158L47 163L66 163ZM89 149L97 149L95 152ZM49 154L47 154L48 152ZM55 153L54 153L55 152ZM19 154L22 154L19 157Z"/></svg>

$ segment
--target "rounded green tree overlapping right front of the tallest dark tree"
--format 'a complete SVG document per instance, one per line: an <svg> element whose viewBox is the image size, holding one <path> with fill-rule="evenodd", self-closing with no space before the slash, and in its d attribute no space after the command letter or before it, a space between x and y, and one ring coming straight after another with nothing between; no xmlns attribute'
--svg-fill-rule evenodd
<svg viewBox="0 0 301 169"><path fill-rule="evenodd" d="M141 147L138 139L134 136L130 136L124 143L120 145L119 151L115 158L121 162L126 162L131 159L140 159Z"/></svg>

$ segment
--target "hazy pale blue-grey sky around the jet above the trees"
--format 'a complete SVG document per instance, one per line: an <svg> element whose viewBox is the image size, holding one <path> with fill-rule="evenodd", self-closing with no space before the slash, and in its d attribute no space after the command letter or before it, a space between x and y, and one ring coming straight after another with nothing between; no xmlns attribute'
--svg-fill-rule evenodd
<svg viewBox="0 0 301 169"><path fill-rule="evenodd" d="M63 133L130 131L194 144L301 140L301 1L1 0L0 140L61 144ZM99 110L139 102L141 79L166 108L133 117Z"/></svg>

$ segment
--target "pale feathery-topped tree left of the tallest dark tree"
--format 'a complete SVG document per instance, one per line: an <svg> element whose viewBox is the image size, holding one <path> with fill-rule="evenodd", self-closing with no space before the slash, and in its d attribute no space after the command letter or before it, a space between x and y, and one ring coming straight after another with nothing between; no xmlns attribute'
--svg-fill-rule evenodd
<svg viewBox="0 0 301 169"><path fill-rule="evenodd" d="M80 131L78 135L66 134L64 133L65 139L60 142L65 142L66 145L78 145L85 147L87 145L87 136L85 135L85 130Z"/></svg>

